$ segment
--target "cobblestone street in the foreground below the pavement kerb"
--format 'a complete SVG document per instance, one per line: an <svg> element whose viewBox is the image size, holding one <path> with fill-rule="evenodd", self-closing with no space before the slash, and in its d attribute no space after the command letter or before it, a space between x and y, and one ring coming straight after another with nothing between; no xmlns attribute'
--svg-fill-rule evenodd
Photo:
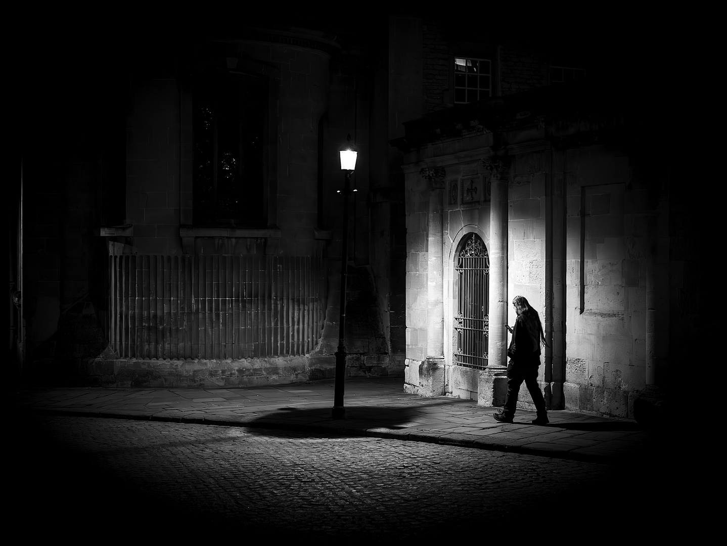
<svg viewBox="0 0 727 546"><path fill-rule="evenodd" d="M99 524L240 538L457 539L513 523L614 532L610 503L623 511L656 485L592 462L394 439L84 417L25 425L15 494L41 510L31 530L41 534ZM603 514L583 512L585 499L601 499ZM617 527L638 537L646 507L634 510Z"/></svg>

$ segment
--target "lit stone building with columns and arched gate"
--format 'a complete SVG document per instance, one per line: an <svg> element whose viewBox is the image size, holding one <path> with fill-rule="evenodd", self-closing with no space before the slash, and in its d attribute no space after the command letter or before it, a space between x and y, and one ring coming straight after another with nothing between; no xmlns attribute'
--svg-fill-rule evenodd
<svg viewBox="0 0 727 546"><path fill-rule="evenodd" d="M504 404L522 295L546 332L550 409L634 417L664 396L696 325L679 295L696 263L679 256L663 150L635 145L633 111L608 96L595 107L603 89L573 82L406 124L408 392Z"/></svg>

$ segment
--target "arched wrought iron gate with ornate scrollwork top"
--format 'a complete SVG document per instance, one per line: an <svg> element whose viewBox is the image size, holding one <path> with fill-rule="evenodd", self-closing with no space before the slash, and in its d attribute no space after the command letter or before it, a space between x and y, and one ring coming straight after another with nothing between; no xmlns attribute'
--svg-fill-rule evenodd
<svg viewBox="0 0 727 546"><path fill-rule="evenodd" d="M476 233L467 236L456 260L454 364L483 369L487 366L490 260Z"/></svg>

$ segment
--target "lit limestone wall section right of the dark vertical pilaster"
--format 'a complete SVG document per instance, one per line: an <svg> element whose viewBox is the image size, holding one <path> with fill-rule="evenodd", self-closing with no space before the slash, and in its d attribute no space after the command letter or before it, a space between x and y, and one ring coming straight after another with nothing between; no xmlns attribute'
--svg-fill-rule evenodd
<svg viewBox="0 0 727 546"><path fill-rule="evenodd" d="M566 172L566 407L632 416L646 388L647 292L652 281L646 189L628 158L592 146L569 150ZM653 226L652 226L653 227Z"/></svg>

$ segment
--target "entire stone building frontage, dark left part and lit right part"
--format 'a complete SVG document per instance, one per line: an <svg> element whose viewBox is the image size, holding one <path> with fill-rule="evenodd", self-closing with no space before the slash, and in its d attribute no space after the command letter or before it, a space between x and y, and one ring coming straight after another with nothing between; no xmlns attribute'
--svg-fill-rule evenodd
<svg viewBox="0 0 727 546"><path fill-rule="evenodd" d="M32 161L11 244L24 373L332 377L346 221L349 374L502 404L522 294L545 324L551 408L631 417L662 396L696 332L699 268L651 74L624 72L614 44L594 55L477 18L305 23L137 37L118 57L66 36L45 72L67 84L56 99L25 79Z"/></svg>

